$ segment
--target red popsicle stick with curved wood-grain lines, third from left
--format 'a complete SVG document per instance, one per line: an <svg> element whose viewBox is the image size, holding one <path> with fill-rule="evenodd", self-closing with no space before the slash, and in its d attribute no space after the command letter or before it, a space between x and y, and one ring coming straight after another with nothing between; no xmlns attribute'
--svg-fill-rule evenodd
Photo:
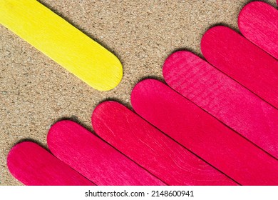
<svg viewBox="0 0 278 200"><path fill-rule="evenodd" d="M167 184L236 184L115 101L98 105L92 123L105 141Z"/></svg>

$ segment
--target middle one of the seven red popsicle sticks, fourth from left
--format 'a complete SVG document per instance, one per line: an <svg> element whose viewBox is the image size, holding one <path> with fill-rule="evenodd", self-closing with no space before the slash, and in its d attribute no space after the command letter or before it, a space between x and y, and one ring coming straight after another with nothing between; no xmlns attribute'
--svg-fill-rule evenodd
<svg viewBox="0 0 278 200"><path fill-rule="evenodd" d="M160 81L141 81L131 102L140 116L238 183L278 184L277 159Z"/></svg>

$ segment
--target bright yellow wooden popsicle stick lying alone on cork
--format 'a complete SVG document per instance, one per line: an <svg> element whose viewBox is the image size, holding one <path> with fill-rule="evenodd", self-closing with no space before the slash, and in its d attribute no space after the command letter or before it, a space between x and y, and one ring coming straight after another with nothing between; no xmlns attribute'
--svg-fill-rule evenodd
<svg viewBox="0 0 278 200"><path fill-rule="evenodd" d="M115 55L36 0L0 0L0 24L95 89L122 79Z"/></svg>

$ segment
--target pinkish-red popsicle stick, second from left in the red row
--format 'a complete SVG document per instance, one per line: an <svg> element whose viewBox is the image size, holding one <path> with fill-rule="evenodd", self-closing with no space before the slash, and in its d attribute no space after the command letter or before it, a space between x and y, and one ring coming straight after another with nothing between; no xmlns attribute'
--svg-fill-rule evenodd
<svg viewBox="0 0 278 200"><path fill-rule="evenodd" d="M97 185L165 185L73 121L51 126L47 142L58 159Z"/></svg>

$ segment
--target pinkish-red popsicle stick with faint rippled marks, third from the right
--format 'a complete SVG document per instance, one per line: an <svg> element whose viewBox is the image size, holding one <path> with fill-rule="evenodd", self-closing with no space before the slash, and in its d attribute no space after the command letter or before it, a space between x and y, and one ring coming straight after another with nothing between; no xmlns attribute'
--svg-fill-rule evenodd
<svg viewBox="0 0 278 200"><path fill-rule="evenodd" d="M278 159L278 110L188 51L166 59L167 84Z"/></svg>

